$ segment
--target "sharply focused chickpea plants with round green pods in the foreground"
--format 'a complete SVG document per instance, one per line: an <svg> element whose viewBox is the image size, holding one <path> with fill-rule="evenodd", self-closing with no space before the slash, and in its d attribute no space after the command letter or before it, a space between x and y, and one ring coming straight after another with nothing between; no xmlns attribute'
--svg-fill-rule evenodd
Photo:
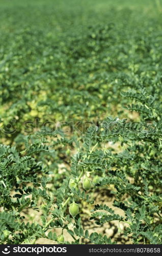
<svg viewBox="0 0 162 256"><path fill-rule="evenodd" d="M136 101L139 98L137 93L123 94ZM33 144L26 142L27 149L21 154L14 147L1 145L0 195L4 209L0 213L1 243L34 244L38 238L48 238L57 243L113 243L106 235L97 232L89 234L89 230L84 230L80 217L83 201L93 205L90 220L97 225L123 222L126 224L123 234L129 235L132 243L161 243L161 169L157 156L161 151L159 138L162 134L157 125L155 98L145 98L148 108L143 106L143 100L140 102L141 107L139 104L127 107L141 113L141 122L133 129L126 119L118 118L107 118L99 126L89 127L84 143L72 158L70 176L63 180L54 196L47 188L51 178L45 165L38 161L38 156L31 156L33 151L52 156L53 150L46 146L45 139L42 139L44 145L41 148L36 143L38 139ZM148 118L152 121L151 127L144 129L144 120ZM112 124L120 129L116 126L110 129ZM104 146L109 141L120 142L124 150L113 153ZM123 210L122 216L116 214L106 202L95 204L95 189L110 189L110 185L111 188L114 186L111 191L115 197L114 206ZM41 201L40 206L38 201ZM25 209L41 210L42 224L36 221L26 223ZM52 231L57 228L62 229L59 236ZM65 240L65 230L70 234L71 242Z"/></svg>

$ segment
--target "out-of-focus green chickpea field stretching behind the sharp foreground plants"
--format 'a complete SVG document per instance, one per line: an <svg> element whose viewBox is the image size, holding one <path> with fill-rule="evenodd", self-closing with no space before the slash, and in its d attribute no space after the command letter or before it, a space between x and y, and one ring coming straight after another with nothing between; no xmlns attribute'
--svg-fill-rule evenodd
<svg viewBox="0 0 162 256"><path fill-rule="evenodd" d="M0 3L1 126L14 119L17 131L6 143L26 120L122 117L121 90L158 93L160 1Z"/></svg>

